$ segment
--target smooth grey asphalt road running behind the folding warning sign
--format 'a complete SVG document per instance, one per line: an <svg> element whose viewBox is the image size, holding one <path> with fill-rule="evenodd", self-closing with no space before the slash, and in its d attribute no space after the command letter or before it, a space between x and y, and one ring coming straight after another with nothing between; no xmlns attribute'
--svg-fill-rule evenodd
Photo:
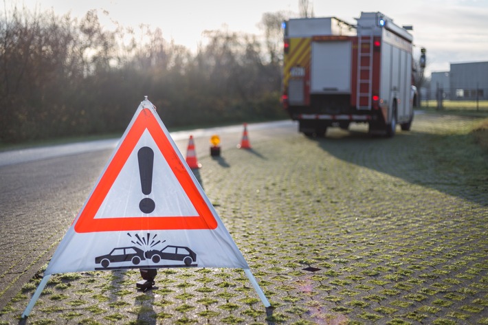
<svg viewBox="0 0 488 325"><path fill-rule="evenodd" d="M249 124L251 144L296 133L285 120ZM190 134L197 158L210 155L210 136L221 150L236 148L243 126L177 131L171 137L186 156ZM54 253L96 183L118 139L0 153L0 310Z"/></svg>

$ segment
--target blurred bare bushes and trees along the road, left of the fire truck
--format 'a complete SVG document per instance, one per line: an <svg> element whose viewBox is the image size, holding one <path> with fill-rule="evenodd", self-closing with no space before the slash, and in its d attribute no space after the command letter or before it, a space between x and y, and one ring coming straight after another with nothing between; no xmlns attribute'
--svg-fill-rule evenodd
<svg viewBox="0 0 488 325"><path fill-rule="evenodd" d="M0 142L122 132L146 95L167 126L284 117L280 65L252 35L208 32L191 54L161 30L104 30L94 10L14 8L0 25Z"/></svg>

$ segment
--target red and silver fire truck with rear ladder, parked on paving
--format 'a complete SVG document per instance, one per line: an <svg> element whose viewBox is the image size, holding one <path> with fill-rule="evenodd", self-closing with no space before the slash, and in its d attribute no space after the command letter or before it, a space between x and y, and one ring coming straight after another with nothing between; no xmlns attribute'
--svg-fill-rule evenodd
<svg viewBox="0 0 488 325"><path fill-rule="evenodd" d="M356 21L283 22L282 103L305 135L347 129L351 122L388 137L397 124L410 131L413 37L381 12L362 12Z"/></svg>

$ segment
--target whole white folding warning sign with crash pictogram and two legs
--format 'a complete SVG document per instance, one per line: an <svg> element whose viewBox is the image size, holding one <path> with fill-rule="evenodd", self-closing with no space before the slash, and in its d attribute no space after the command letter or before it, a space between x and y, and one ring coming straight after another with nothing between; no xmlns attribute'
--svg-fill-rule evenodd
<svg viewBox="0 0 488 325"><path fill-rule="evenodd" d="M113 269L244 269L241 251L146 98L54 252L22 317L52 274Z"/></svg>

